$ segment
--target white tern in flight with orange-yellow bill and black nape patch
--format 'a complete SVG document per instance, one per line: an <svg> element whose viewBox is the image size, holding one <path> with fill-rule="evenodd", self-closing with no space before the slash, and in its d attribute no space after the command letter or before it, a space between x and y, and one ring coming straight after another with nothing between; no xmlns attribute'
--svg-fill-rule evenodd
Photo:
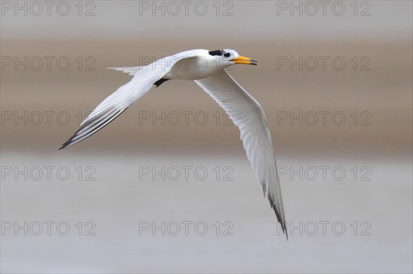
<svg viewBox="0 0 413 274"><path fill-rule="evenodd" d="M282 230L286 233L286 218L281 187L275 163L273 141L260 104L225 71L235 64L257 65L257 61L240 56L233 49L193 49L167 56L144 67L114 67L134 76L101 102L82 122L81 128L61 146L65 148L93 135L112 122L131 104L154 85L167 80L194 80L240 128L246 156L262 185L264 197L268 196ZM286 233L288 238L288 235Z"/></svg>

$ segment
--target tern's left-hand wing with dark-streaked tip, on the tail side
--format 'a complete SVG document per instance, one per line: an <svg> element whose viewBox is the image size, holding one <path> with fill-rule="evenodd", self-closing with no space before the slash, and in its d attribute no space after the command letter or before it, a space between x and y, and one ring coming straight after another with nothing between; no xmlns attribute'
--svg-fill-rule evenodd
<svg viewBox="0 0 413 274"><path fill-rule="evenodd" d="M167 56L157 60L156 65L149 64L145 67L140 67L140 69L136 68L134 71L129 68L119 68L129 73L135 73L134 78L103 100L82 122L81 128L59 149L72 146L96 133L145 95L156 81L160 80L171 70L176 62L184 58L198 56L199 53L199 50L181 52L175 56Z"/></svg>

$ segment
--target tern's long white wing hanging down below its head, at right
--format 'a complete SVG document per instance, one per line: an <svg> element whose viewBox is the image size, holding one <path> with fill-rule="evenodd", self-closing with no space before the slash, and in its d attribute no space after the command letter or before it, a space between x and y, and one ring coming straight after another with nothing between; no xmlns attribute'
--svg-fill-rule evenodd
<svg viewBox="0 0 413 274"><path fill-rule="evenodd" d="M241 139L248 160L268 196L277 220L286 233L286 218L271 134L260 104L237 84L226 71L218 71L208 78L195 80L213 100L229 113L240 128ZM286 235L288 238L288 235Z"/></svg>

